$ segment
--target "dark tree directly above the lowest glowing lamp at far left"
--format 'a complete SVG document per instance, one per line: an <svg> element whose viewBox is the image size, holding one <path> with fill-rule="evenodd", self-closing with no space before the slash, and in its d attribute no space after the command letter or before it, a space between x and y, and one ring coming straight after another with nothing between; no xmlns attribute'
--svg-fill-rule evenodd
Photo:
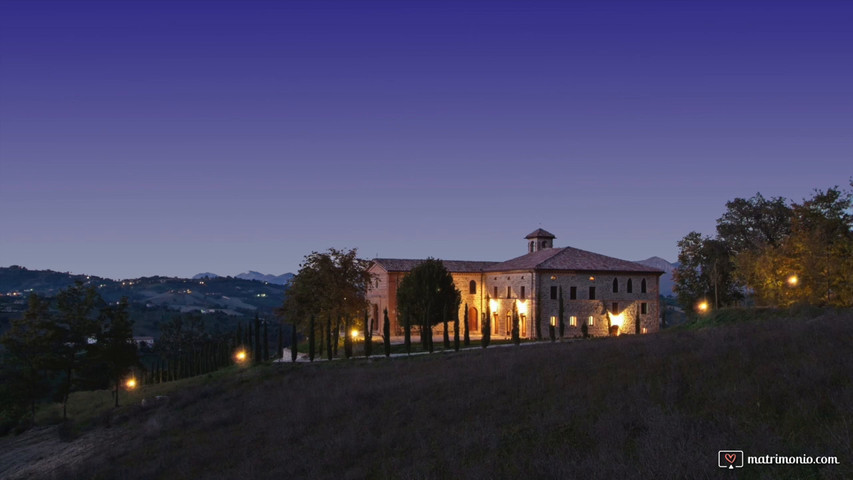
<svg viewBox="0 0 853 480"><path fill-rule="evenodd" d="M98 335L97 352L113 384L116 407L122 377L139 364L136 344L133 343L133 320L127 309L127 297L122 297L118 305L105 306L100 312L103 329Z"/></svg>

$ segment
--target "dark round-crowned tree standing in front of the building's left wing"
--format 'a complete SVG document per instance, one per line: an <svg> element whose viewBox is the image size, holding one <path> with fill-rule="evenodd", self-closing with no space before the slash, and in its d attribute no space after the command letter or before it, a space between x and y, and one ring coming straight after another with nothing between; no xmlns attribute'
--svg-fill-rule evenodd
<svg viewBox="0 0 853 480"><path fill-rule="evenodd" d="M459 310L462 294L441 260L427 258L397 287L398 309L421 326L421 341L432 350L432 327L446 321L446 312Z"/></svg>

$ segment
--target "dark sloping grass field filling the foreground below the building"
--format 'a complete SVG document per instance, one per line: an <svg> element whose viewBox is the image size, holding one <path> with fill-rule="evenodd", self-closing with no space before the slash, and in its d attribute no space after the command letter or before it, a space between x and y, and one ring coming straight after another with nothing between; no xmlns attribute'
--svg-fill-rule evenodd
<svg viewBox="0 0 853 480"><path fill-rule="evenodd" d="M120 410L122 441L46 475L853 478L853 314L727 315L641 337L233 370ZM729 471L718 450L840 465Z"/></svg>

